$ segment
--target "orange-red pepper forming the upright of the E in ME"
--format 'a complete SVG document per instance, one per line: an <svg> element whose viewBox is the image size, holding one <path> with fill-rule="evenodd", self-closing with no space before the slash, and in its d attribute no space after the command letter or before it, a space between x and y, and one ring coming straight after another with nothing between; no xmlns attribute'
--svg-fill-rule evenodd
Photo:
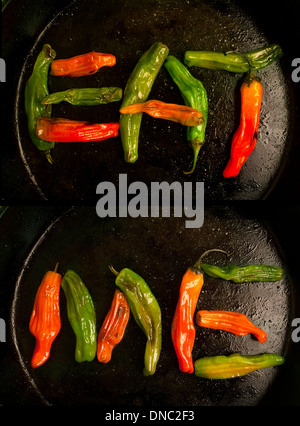
<svg viewBox="0 0 300 426"><path fill-rule="evenodd" d="M194 313L203 286L203 274L198 262L185 272L179 290L179 298L171 326L171 337L177 355L179 369L193 373L192 350L195 342Z"/></svg>

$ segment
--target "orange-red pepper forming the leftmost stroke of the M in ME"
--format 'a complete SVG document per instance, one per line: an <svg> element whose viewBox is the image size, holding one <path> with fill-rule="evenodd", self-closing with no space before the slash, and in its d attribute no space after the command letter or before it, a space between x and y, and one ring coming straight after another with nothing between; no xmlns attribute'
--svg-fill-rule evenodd
<svg viewBox="0 0 300 426"><path fill-rule="evenodd" d="M38 288L29 322L29 330L36 338L31 359L33 368L40 367L50 356L52 343L61 328L59 293L62 277L54 271L48 271Z"/></svg>

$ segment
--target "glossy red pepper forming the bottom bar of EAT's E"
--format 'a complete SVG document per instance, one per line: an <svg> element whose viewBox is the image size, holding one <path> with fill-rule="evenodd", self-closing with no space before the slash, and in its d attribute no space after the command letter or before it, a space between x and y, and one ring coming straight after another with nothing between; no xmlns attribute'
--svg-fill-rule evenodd
<svg viewBox="0 0 300 426"><path fill-rule="evenodd" d="M119 123L90 124L66 118L39 118L36 135L52 142L93 142L118 136Z"/></svg>

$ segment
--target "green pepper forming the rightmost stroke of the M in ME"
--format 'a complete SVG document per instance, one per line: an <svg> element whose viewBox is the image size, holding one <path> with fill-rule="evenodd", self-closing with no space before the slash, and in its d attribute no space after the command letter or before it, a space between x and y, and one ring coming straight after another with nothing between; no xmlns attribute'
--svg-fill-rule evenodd
<svg viewBox="0 0 300 426"><path fill-rule="evenodd" d="M128 268L119 273L112 267L116 277L116 285L125 294L130 311L147 337L144 370L145 376L155 373L161 352L162 321L160 306L142 277Z"/></svg>

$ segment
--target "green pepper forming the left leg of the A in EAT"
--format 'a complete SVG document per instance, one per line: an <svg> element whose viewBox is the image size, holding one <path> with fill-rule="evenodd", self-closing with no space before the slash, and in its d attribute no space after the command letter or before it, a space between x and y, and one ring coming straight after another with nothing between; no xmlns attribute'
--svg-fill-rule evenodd
<svg viewBox="0 0 300 426"><path fill-rule="evenodd" d="M127 81L121 108L147 100L168 53L168 47L157 42L141 56ZM138 159L141 121L141 112L138 114L121 114L120 116L120 135L125 161L128 163L134 163Z"/></svg>

